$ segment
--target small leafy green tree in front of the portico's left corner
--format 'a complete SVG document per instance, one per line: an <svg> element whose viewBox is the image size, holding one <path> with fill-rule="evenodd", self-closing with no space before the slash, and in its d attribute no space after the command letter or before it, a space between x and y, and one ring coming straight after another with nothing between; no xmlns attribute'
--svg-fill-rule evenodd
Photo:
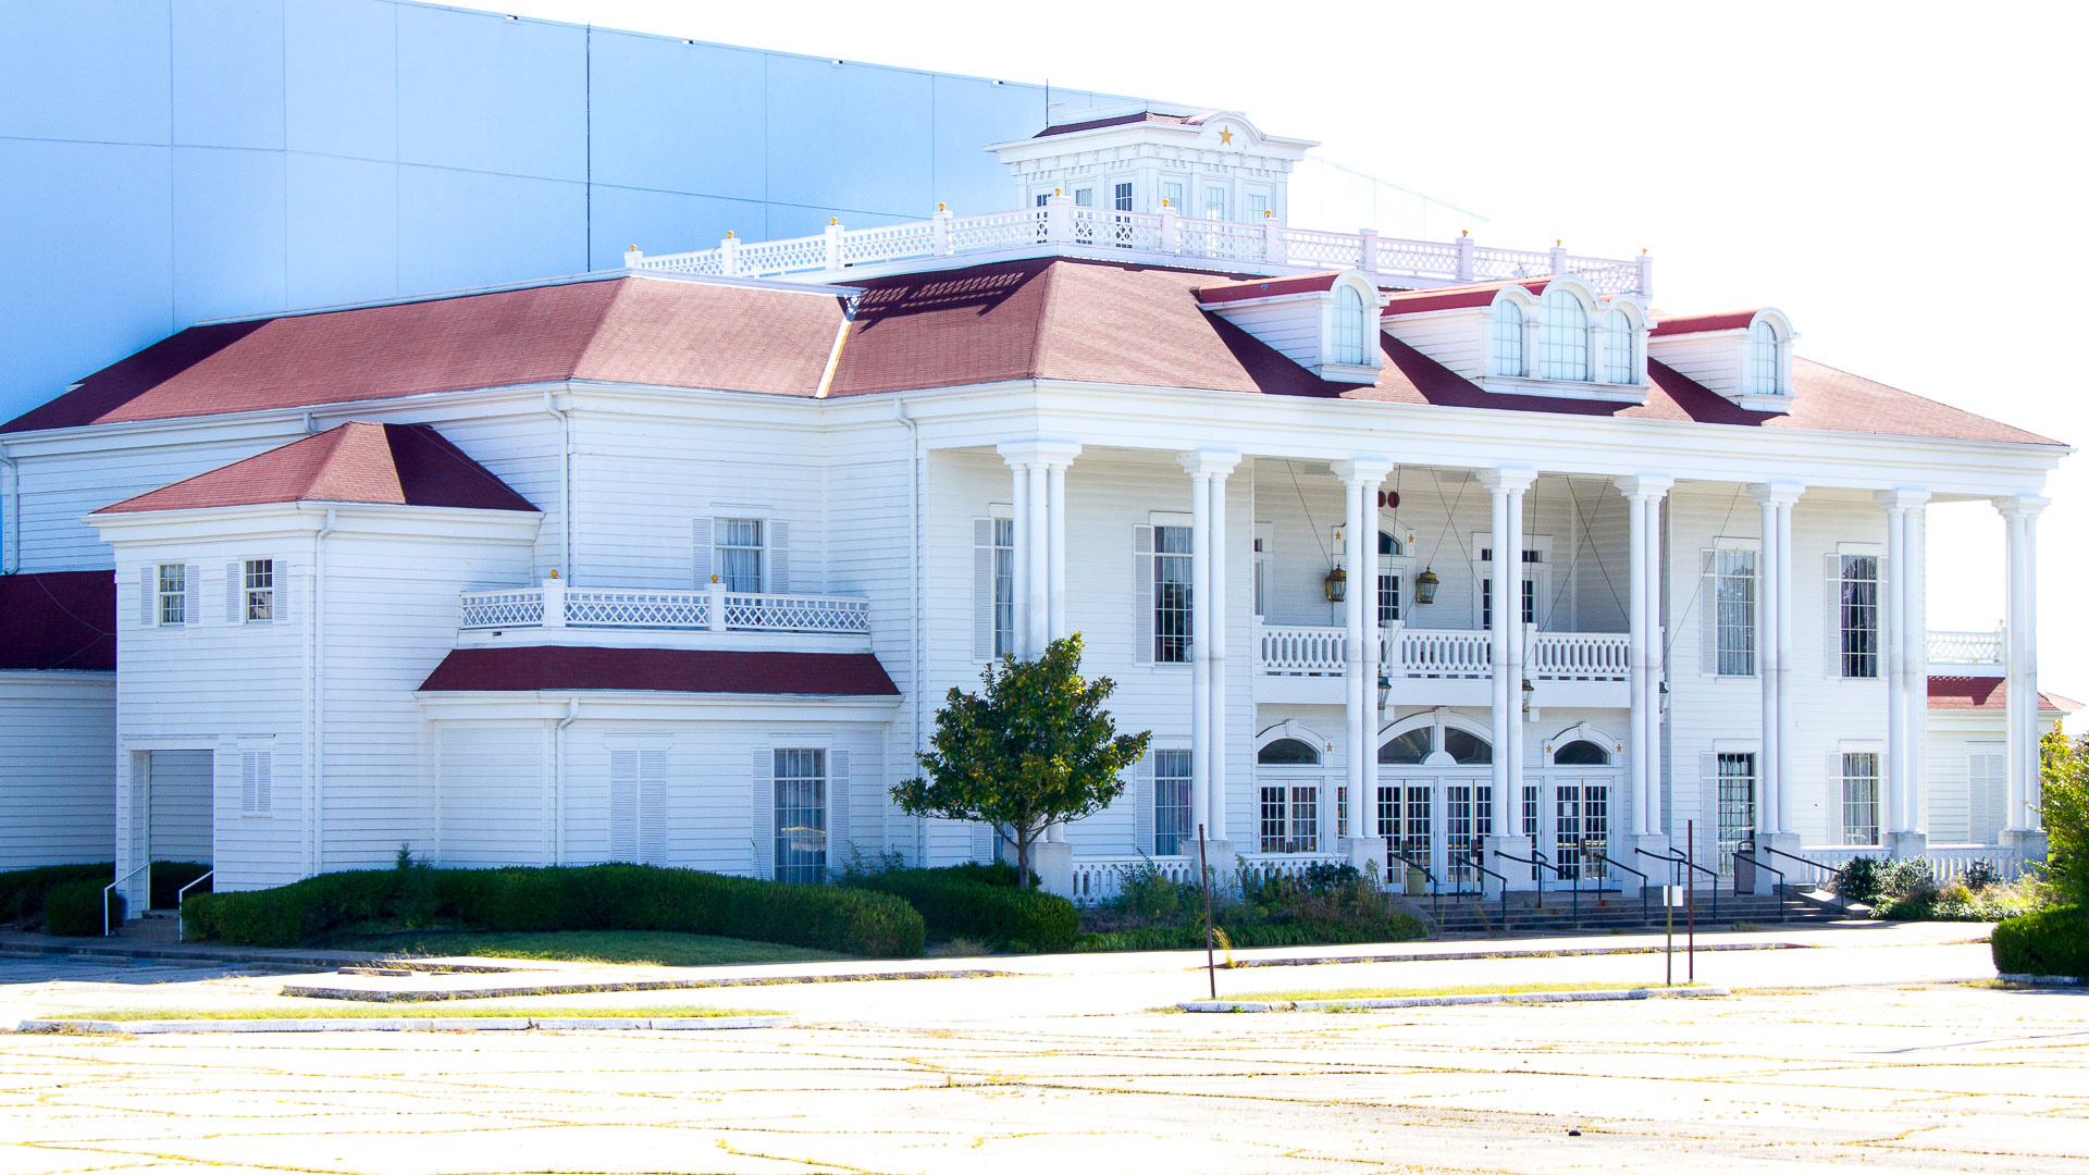
<svg viewBox="0 0 2089 1175"><path fill-rule="evenodd" d="M936 711L923 776L892 788L909 815L984 820L1015 847L1030 880L1030 847L1044 828L1101 811L1124 792L1118 778L1147 753L1153 732L1118 734L1103 700L1109 677L1080 675L1080 633L1051 642L1036 661L1003 659L982 690L953 688Z"/></svg>

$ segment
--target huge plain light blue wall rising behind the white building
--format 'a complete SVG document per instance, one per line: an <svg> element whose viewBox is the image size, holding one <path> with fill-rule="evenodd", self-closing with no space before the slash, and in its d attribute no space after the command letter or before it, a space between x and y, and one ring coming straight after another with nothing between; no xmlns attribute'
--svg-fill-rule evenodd
<svg viewBox="0 0 2089 1175"><path fill-rule="evenodd" d="M201 318L1011 207L982 146L1044 102L397 0L10 0L0 420Z"/></svg>

